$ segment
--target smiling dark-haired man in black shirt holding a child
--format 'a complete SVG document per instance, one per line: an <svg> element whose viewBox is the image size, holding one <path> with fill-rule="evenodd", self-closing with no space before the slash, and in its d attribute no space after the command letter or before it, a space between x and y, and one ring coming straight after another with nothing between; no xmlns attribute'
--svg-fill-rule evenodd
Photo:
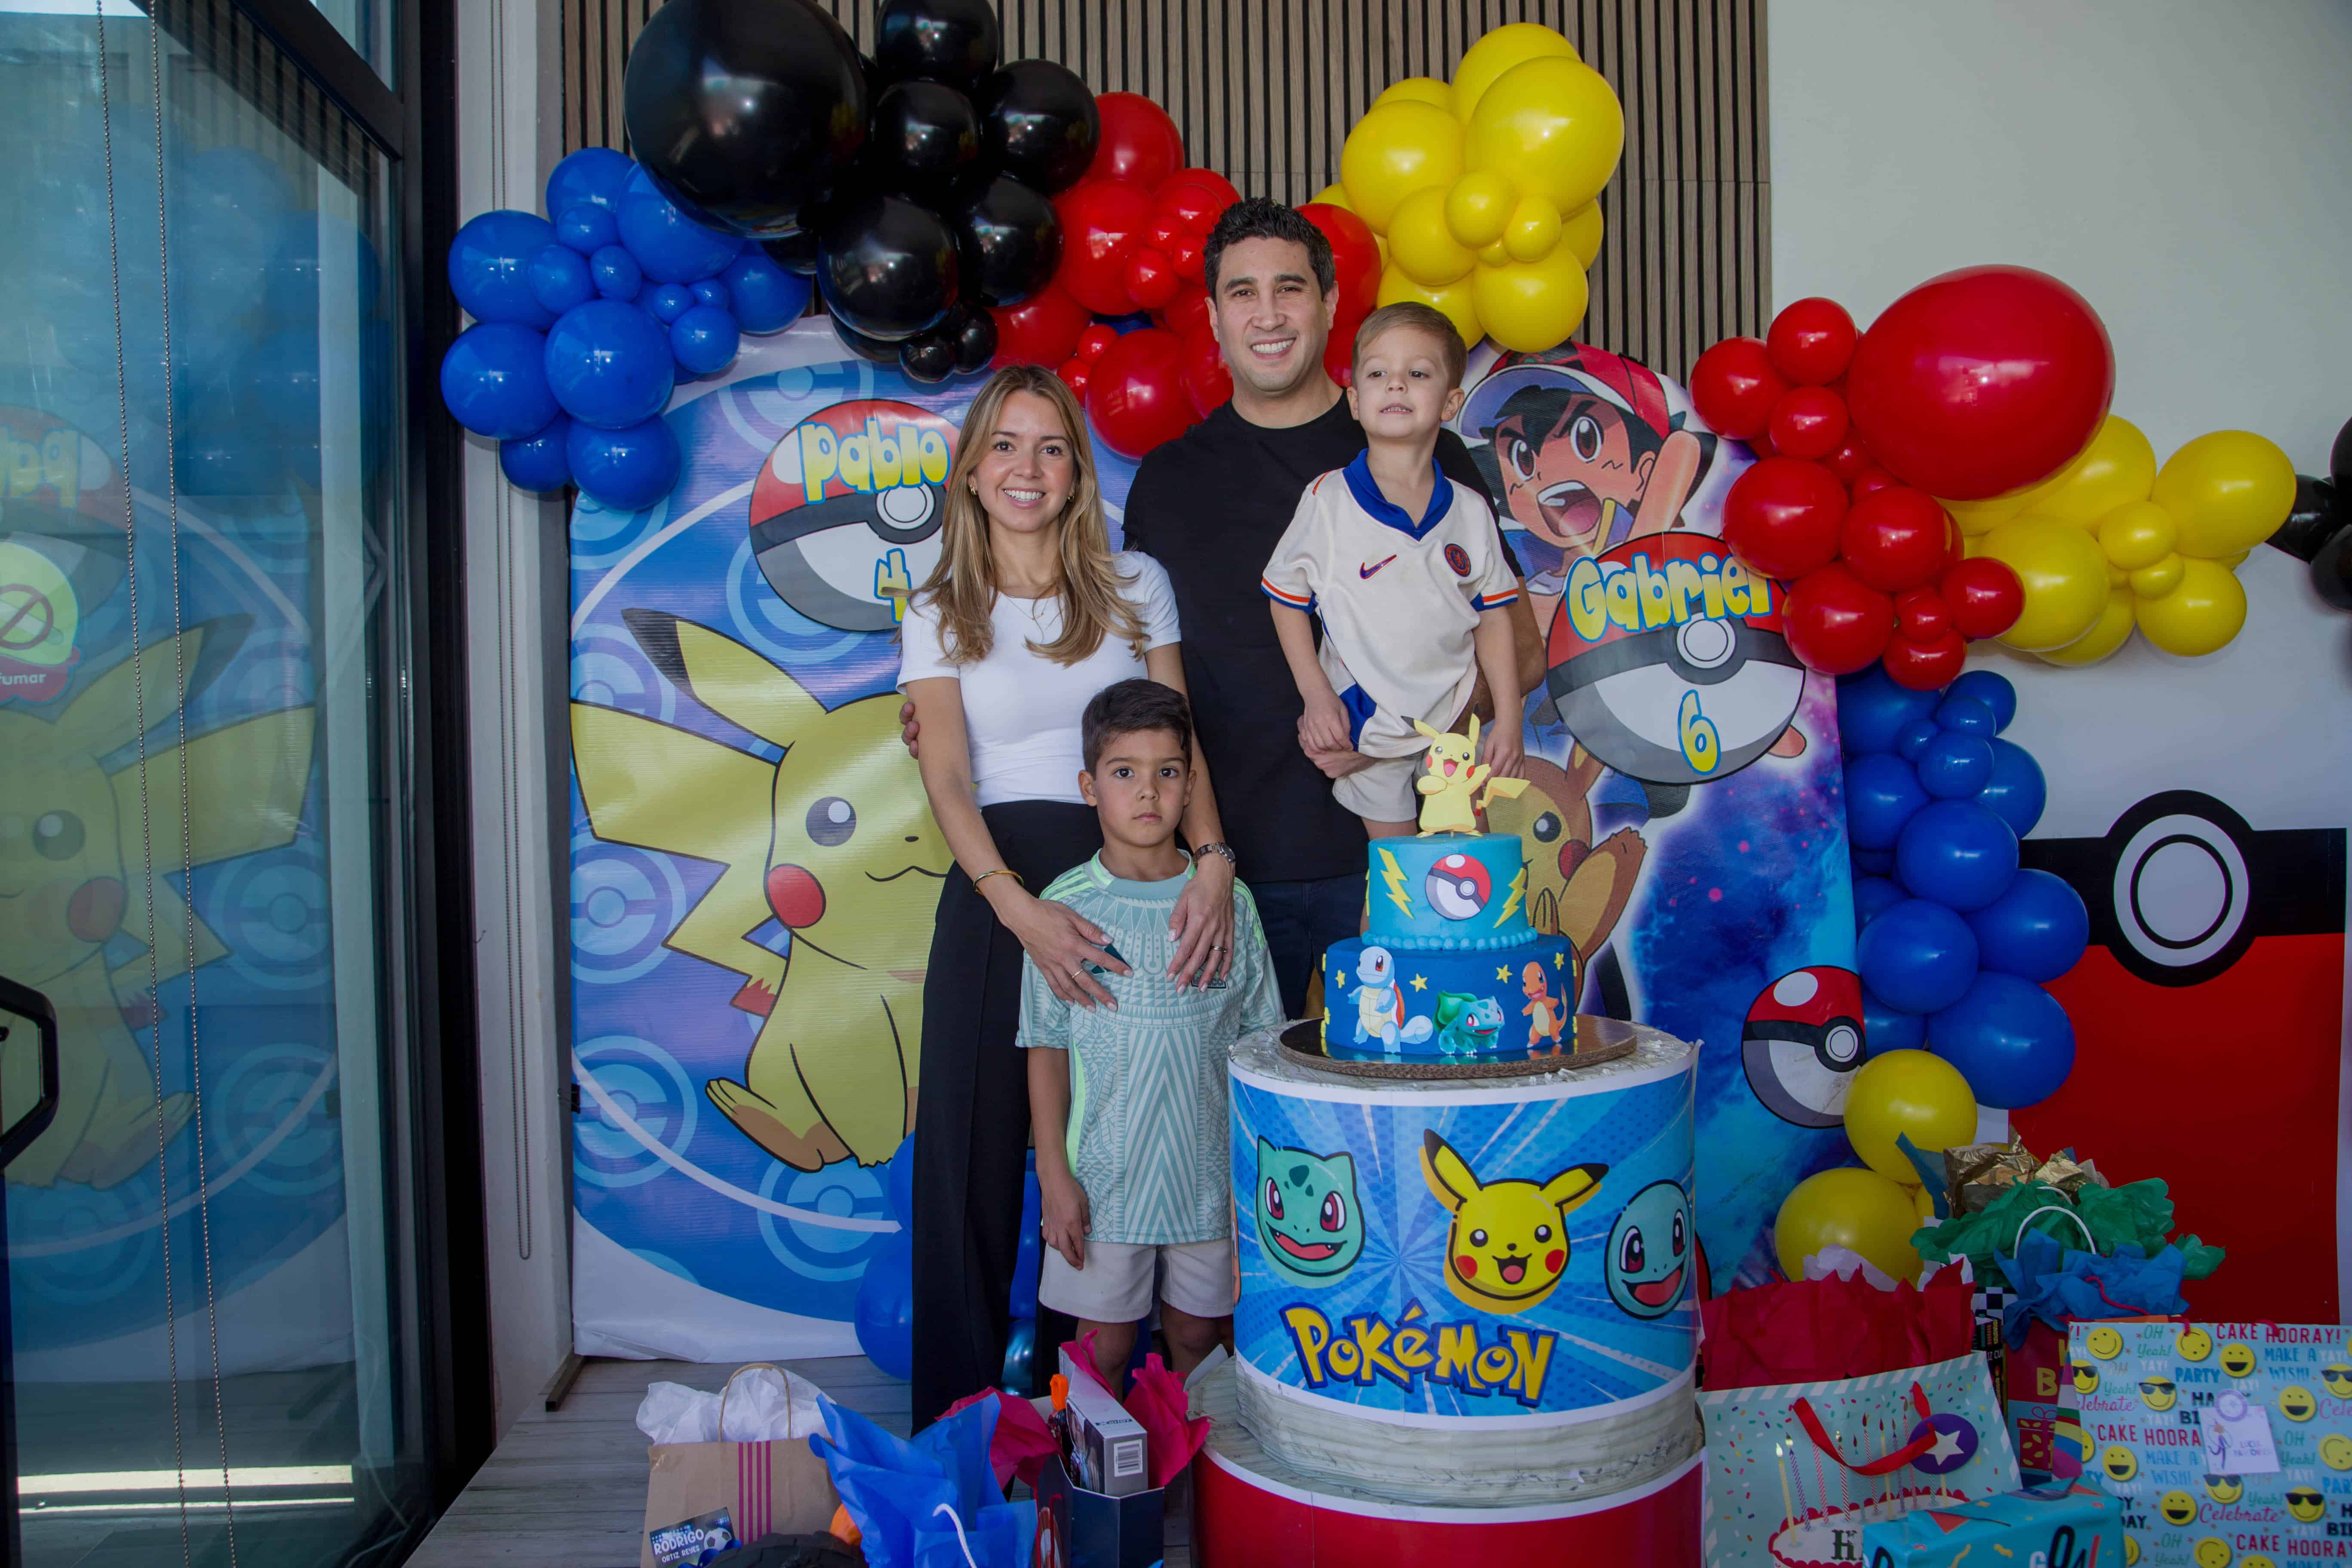
<svg viewBox="0 0 2352 1568"><path fill-rule="evenodd" d="M1331 780L1371 757L1303 748L1298 684L1258 574L1301 491L1345 468L1364 449L1364 428L1324 374L1338 294L1322 230L1279 202L1237 202L1211 230L1204 261L1232 402L1143 458L1124 534L1127 548L1155 557L1176 585L1200 750L1258 903L1282 1006L1298 1018L1322 950L1362 922L1364 825L1331 799ZM1437 465L1486 494L1451 430L1437 437ZM1510 567L1519 571L1517 559ZM1512 625L1519 677L1536 691L1543 646L1526 595L1512 604Z"/></svg>

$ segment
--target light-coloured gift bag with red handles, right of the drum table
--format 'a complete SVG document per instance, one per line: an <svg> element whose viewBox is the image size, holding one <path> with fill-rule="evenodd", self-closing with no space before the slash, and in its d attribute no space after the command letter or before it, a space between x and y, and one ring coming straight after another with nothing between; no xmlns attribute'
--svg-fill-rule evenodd
<svg viewBox="0 0 2352 1568"><path fill-rule="evenodd" d="M1863 1526L2016 1490L1985 1359L1837 1382L1705 1389L1708 1566L1860 1563Z"/></svg>

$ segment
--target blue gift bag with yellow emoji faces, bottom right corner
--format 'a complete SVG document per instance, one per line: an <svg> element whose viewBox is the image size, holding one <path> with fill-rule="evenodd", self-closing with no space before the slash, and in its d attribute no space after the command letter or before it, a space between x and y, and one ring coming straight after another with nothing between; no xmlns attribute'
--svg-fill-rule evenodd
<svg viewBox="0 0 2352 1568"><path fill-rule="evenodd" d="M2352 1559L2352 1328L2074 1324L2086 1479L2145 1568Z"/></svg>

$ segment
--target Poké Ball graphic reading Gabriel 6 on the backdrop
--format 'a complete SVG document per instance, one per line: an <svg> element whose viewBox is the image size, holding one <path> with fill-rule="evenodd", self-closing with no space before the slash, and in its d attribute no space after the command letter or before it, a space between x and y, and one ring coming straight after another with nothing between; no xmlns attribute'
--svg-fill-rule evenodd
<svg viewBox="0 0 2352 1568"><path fill-rule="evenodd" d="M1569 733L1649 783L1738 773L1804 698L1804 665L1780 635L1780 585L1705 534L1651 534L1578 559L1548 658Z"/></svg>

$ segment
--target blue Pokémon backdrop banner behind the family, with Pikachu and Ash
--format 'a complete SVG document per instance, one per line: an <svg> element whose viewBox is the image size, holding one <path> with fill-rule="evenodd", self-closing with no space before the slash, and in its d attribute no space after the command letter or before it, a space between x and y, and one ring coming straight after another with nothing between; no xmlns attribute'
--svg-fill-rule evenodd
<svg viewBox="0 0 2352 1568"><path fill-rule="evenodd" d="M938 559L976 388L915 386L807 320L680 388L666 501L574 510L583 1352L856 1347L948 870L898 745L894 625ZM1536 357L1463 435L1562 665L1529 701L1534 788L1491 825L1524 839L1531 919L1576 943L1585 1011L1705 1041L1698 1229L1752 1272L1788 1187L1844 1157L1860 1063L1830 684L1788 658L1778 588L1712 548L1750 458L1679 388ZM1134 465L1096 456L1117 534ZM1571 661L1583 632L1597 656Z"/></svg>

